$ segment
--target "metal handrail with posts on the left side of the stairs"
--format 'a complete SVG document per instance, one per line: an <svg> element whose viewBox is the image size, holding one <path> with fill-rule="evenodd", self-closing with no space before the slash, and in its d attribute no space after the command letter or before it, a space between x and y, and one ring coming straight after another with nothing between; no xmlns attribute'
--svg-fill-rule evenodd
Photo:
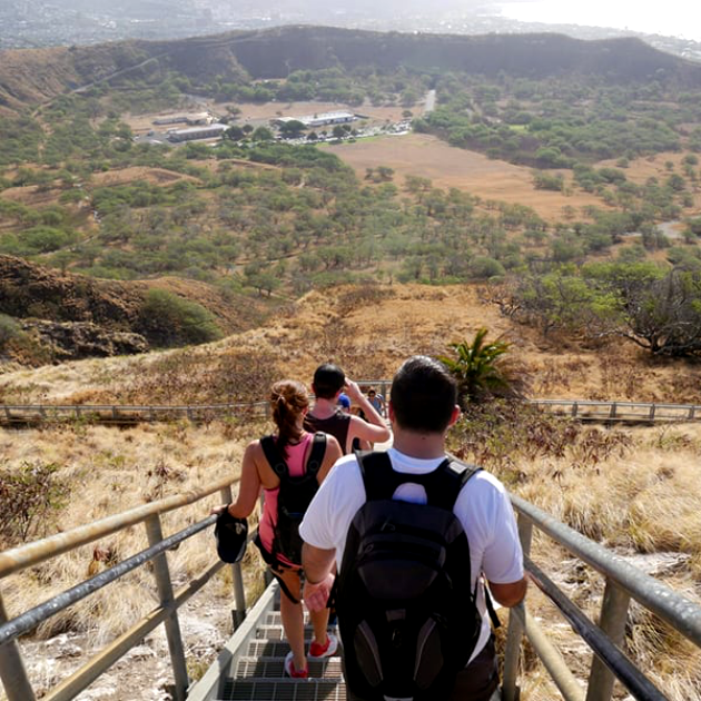
<svg viewBox="0 0 701 701"><path fill-rule="evenodd" d="M145 565L147 562L152 562L154 564L152 570L160 605L88 661L77 672L49 691L45 698L49 701L68 701L75 698L120 656L142 640L147 633L160 623L164 623L175 678L175 694L177 701L182 701L189 682L177 611L180 605L197 593L225 565L223 562L217 561L205 572L200 573L199 576L191 580L185 588L174 592L166 551L210 526L216 521L216 516L206 517L168 537L164 537L161 532L160 516L164 513L192 504L215 492L219 492L223 502L230 502L231 485L236 482L238 482L238 478L221 480L204 490L192 490L151 504L137 506L91 524L78 526L66 533L59 533L0 553L0 579L2 579L141 522L146 526L149 544L146 550L59 593L49 601L24 611L14 619L9 619L0 595L0 678L9 701L36 700L36 694L24 670L17 639L34 629L42 621L95 593L128 572ZM238 625L246 615L246 599L240 564L233 565L233 577L236 602L234 620L235 624Z"/></svg>

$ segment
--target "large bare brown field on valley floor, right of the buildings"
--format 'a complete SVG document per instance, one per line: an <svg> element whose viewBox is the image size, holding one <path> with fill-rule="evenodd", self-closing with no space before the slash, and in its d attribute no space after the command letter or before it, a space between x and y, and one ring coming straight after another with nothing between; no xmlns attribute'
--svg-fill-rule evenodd
<svg viewBox="0 0 701 701"><path fill-rule="evenodd" d="M362 177L366 168L388 166L399 178L407 175L430 178L434 186L455 187L483 199L527 205L550 221L561 220L567 205L581 210L588 205L603 207L603 203L586 192L570 196L536 190L530 168L491 160L482 154L453 148L436 137L425 134L359 139L355 144L328 147ZM565 171L565 180L571 181Z"/></svg>

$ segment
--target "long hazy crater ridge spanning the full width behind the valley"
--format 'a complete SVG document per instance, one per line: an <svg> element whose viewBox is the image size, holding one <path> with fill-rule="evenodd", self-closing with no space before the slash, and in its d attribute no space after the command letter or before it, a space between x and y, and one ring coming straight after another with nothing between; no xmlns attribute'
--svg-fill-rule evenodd
<svg viewBox="0 0 701 701"><path fill-rule="evenodd" d="M18 111L122 71L174 69L190 78L285 78L298 69L401 66L430 71L500 71L526 78L596 75L612 83L664 80L701 87L701 65L640 39L583 41L562 34L414 34L282 27L172 41L0 52L0 109Z"/></svg>

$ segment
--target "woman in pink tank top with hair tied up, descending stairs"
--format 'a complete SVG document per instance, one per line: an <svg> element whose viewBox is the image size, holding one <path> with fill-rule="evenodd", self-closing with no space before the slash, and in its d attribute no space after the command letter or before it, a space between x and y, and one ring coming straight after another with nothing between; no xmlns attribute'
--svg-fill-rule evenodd
<svg viewBox="0 0 701 701"><path fill-rule="evenodd" d="M270 389L270 406L273 419L277 427L271 436L275 451L286 463L289 476L300 477L306 472L314 438L314 434L307 433L303 427L304 417L309 409L309 393L299 382L293 379L277 382ZM258 496L263 492L264 509L258 526L259 542L257 544L283 590L280 618L290 648L290 652L285 659L285 672L289 677L306 678L308 675L307 658L330 656L336 652L338 642L335 635L326 631L328 609L310 612L309 619L314 628L314 640L309 645L308 653L305 654L302 567L298 562L292 562L282 553L276 552L275 532L278 523L277 502L280 477L266 458L261 441L266 441L266 438L253 441L246 448L236 501L228 506L215 509L213 513L228 509L231 516L246 519L255 509ZM319 484L340 456L338 442L333 436L327 435L326 450L317 472Z"/></svg>

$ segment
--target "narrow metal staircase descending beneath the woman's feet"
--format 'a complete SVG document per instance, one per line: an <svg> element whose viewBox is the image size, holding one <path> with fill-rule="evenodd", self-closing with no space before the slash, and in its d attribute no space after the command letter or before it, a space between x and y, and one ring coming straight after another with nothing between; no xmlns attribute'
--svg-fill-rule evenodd
<svg viewBox="0 0 701 701"><path fill-rule="evenodd" d="M188 701L345 701L339 656L309 660L308 679L284 675L289 645L278 609L279 588L273 583L217 662L190 689ZM307 645L310 640L312 626L305 625Z"/></svg>

